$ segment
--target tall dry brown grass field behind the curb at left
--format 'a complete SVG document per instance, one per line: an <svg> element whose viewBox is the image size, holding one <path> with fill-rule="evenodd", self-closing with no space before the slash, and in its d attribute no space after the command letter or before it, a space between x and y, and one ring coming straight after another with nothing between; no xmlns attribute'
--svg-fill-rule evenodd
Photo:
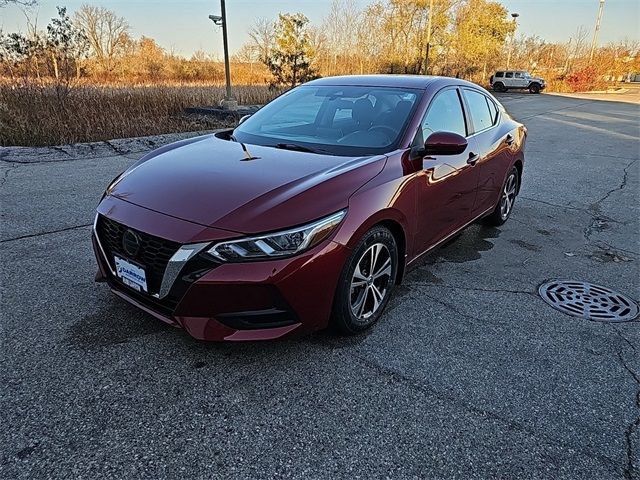
<svg viewBox="0 0 640 480"><path fill-rule="evenodd" d="M218 105L224 87L0 84L0 145L63 145L161 133L207 130L233 119L186 115L187 107ZM236 86L239 103L263 104L266 86Z"/></svg>

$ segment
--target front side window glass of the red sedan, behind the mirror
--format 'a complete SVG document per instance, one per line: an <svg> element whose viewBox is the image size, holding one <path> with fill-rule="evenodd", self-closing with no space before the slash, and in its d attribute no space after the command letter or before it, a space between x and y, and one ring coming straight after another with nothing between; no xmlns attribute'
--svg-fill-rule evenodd
<svg viewBox="0 0 640 480"><path fill-rule="evenodd" d="M434 132L453 132L463 137L467 135L464 113L457 90L449 89L437 94L422 120L422 128L418 131L415 144L424 143ZM422 138L419 138L420 134L422 134Z"/></svg>

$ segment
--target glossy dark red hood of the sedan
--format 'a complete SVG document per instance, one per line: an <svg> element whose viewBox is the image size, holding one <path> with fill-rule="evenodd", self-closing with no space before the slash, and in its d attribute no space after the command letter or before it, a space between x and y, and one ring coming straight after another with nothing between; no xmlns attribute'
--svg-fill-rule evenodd
<svg viewBox="0 0 640 480"><path fill-rule="evenodd" d="M238 233L277 230L347 207L386 156L341 157L241 144L215 135L162 147L107 194L200 225Z"/></svg>

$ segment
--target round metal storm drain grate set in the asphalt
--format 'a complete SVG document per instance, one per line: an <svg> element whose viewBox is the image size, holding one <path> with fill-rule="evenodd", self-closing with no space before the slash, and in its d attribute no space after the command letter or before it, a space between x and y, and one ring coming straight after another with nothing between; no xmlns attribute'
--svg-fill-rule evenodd
<svg viewBox="0 0 640 480"><path fill-rule="evenodd" d="M538 293L556 310L596 322L628 322L638 316L638 305L629 297L587 282L552 280Z"/></svg>

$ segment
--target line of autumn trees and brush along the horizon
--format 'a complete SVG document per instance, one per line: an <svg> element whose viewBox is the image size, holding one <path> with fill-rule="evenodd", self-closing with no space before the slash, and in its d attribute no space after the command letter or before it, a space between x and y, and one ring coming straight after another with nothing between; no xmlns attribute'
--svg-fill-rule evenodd
<svg viewBox="0 0 640 480"><path fill-rule="evenodd" d="M640 71L637 42L600 47L592 56L584 28L562 43L516 37L516 28L492 0L374 0L364 8L334 0L320 25L301 13L256 21L232 57L232 79L290 86L327 75L409 73L486 83L510 57L511 68L575 90ZM29 23L26 33L0 32L0 75L62 85L224 79L219 59L202 51L185 58L152 38L134 39L124 17L92 5L73 13L59 7L44 30Z"/></svg>

